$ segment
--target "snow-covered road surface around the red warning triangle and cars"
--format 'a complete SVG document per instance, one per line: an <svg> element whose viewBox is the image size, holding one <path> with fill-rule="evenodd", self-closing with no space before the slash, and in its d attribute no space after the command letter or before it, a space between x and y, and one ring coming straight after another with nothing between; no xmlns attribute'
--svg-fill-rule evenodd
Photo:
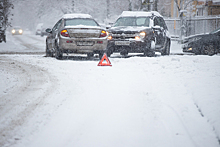
<svg viewBox="0 0 220 147"><path fill-rule="evenodd" d="M99 67L98 58L45 58L43 39L0 44L22 53L0 55L0 146L220 146L219 55L178 56L172 42L173 55L114 54Z"/></svg>

